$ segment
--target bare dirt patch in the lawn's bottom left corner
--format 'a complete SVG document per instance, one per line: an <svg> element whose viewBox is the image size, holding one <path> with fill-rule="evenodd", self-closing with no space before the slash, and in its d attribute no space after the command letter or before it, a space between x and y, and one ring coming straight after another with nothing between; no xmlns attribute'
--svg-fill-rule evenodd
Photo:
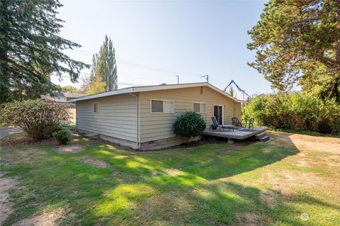
<svg viewBox="0 0 340 226"><path fill-rule="evenodd" d="M4 174L0 173L0 225L13 213L13 203L8 191L17 185L15 179L3 176Z"/></svg>

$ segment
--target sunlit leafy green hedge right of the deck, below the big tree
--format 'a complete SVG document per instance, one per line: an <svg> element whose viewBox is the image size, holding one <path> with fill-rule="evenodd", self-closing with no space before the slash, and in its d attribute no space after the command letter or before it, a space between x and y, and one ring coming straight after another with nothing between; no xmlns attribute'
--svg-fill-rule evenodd
<svg viewBox="0 0 340 226"><path fill-rule="evenodd" d="M256 124L271 128L340 132L339 103L310 94L258 96L243 109L242 117L255 118Z"/></svg>

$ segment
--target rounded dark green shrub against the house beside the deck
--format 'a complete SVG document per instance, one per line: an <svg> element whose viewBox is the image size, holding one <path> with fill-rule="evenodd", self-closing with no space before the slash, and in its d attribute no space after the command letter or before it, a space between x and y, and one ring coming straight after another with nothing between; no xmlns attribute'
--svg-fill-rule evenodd
<svg viewBox="0 0 340 226"><path fill-rule="evenodd" d="M176 135L186 137L188 142L189 138L202 135L205 127L205 120L201 115L193 111L188 111L176 118L174 132Z"/></svg>

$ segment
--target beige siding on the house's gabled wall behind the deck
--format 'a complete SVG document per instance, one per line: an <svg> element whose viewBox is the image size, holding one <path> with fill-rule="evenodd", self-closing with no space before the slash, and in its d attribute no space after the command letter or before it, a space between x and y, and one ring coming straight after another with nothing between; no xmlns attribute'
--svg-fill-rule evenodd
<svg viewBox="0 0 340 226"><path fill-rule="evenodd" d="M231 124L234 116L240 118L240 103L207 86L203 87L203 94L200 89L192 87L140 93L140 142L176 137L172 125L178 115L193 110L193 102L207 103L207 113L200 113L207 126L212 123L214 104L223 105L224 124ZM175 113L150 113L151 99L174 101Z"/></svg>

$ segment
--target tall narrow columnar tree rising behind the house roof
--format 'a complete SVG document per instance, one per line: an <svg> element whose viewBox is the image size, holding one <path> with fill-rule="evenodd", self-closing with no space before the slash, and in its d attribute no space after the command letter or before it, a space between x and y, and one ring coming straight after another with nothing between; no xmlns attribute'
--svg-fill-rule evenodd
<svg viewBox="0 0 340 226"><path fill-rule="evenodd" d="M113 91L118 88L115 48L113 47L111 38L108 38L108 35L105 36L99 54L96 53L92 57L91 79L96 81L99 78L103 83L96 83L97 91L100 85L104 85L105 91Z"/></svg>

